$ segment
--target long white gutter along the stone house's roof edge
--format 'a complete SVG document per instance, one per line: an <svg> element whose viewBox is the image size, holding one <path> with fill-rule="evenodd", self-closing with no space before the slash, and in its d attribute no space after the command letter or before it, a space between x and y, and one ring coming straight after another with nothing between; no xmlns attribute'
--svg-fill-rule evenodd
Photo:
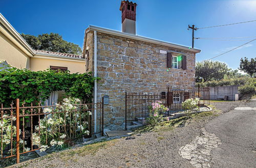
<svg viewBox="0 0 256 168"><path fill-rule="evenodd" d="M154 43L154 44L164 45L164 46L168 46L168 47L183 49L183 50L191 51L191 52L195 52L195 53L201 52L200 49L191 48L191 47L178 45L178 44L174 44L174 43L169 43L169 42L165 42L165 41L160 41L160 40L156 40L156 39L151 39L151 38L147 38L147 37L132 35L132 34L123 33L123 32L119 32L119 31L114 31L111 29L105 29L102 27L94 26L94 25L89 25L88 31L97 31L100 33L111 34L111 35L115 35L115 36L119 36L119 37L125 37L125 38L134 39L134 40L145 41L148 43Z"/></svg>

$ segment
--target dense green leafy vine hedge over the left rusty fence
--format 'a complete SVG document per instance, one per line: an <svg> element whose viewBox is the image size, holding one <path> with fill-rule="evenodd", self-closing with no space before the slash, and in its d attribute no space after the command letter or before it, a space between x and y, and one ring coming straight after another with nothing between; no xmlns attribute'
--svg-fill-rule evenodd
<svg viewBox="0 0 256 168"><path fill-rule="evenodd" d="M54 91L65 91L67 96L91 99L94 80L92 73L69 73L54 70L33 72L9 68L0 71L0 103L8 105L19 98L27 103L45 101Z"/></svg>

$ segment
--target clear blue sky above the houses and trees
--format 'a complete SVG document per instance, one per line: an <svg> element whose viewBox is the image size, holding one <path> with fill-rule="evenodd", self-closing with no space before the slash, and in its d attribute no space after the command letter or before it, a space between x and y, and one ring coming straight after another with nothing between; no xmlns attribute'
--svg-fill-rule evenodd
<svg viewBox="0 0 256 168"><path fill-rule="evenodd" d="M256 0L136 0L137 34L191 46L191 30L196 27L256 20ZM38 35L59 33L63 39L82 47L84 30L97 25L121 31L120 0L1 0L0 13L19 33ZM195 37L256 36L256 22L195 31ZM253 39L253 38L250 38ZM201 49L197 61L210 59L247 41L195 40ZM214 60L237 69L240 58L256 57L256 41Z"/></svg>

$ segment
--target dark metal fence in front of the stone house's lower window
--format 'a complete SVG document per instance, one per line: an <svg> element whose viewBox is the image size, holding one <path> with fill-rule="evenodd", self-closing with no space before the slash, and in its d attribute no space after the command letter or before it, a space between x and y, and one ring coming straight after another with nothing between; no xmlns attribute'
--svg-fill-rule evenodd
<svg viewBox="0 0 256 168"><path fill-rule="evenodd" d="M169 110L164 115L169 116L184 110L183 101L196 97L200 98L199 107L209 105L209 88L195 90L169 90L168 88L167 92L152 94L125 93L125 124L129 121L145 120L149 116L148 106L156 101L161 101L168 107Z"/></svg>

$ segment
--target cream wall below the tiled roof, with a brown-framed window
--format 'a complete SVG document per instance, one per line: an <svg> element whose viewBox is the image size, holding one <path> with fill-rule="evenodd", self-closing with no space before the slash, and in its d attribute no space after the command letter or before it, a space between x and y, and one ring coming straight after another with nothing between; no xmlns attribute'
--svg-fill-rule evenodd
<svg viewBox="0 0 256 168"><path fill-rule="evenodd" d="M54 60L53 58L31 58L30 59L30 70L31 71L42 71L50 68L50 66L68 67L70 73L84 73L85 62L84 61L71 61L71 60Z"/></svg>

